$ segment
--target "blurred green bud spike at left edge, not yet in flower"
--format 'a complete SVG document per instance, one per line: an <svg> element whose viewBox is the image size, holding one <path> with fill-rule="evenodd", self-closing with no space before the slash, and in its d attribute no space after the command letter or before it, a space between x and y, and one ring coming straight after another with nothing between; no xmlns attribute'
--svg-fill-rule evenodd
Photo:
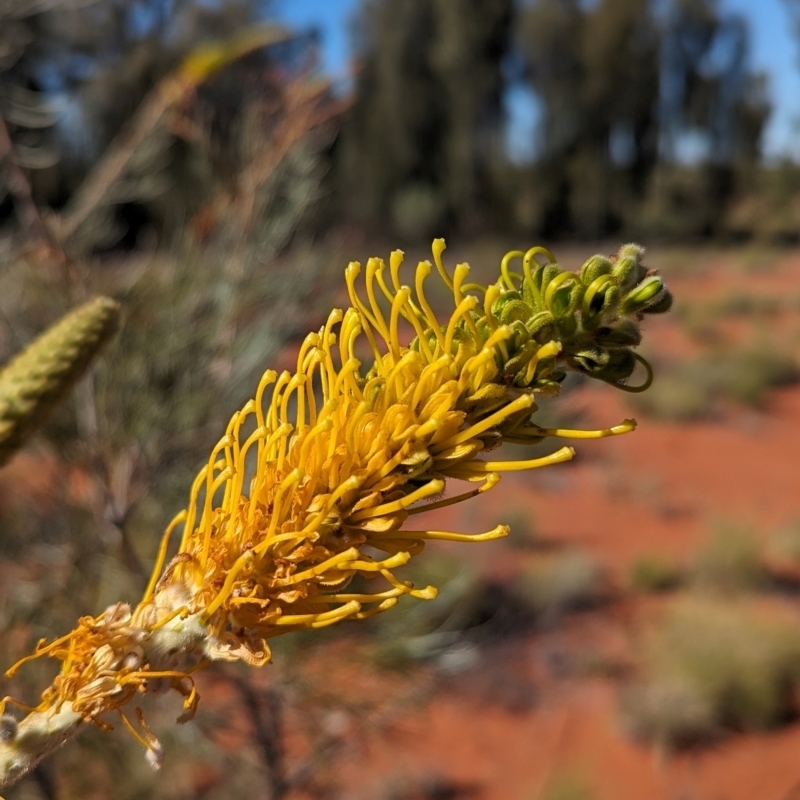
<svg viewBox="0 0 800 800"><path fill-rule="evenodd" d="M119 305L97 297L48 328L0 372L0 464L46 420L111 338Z"/></svg>

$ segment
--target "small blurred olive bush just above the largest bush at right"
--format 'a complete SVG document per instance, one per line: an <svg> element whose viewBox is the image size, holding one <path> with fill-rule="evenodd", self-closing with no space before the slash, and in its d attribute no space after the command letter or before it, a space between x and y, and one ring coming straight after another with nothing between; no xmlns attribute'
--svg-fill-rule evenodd
<svg viewBox="0 0 800 800"><path fill-rule="evenodd" d="M754 533L731 523L716 527L695 558L690 577L694 588L722 594L754 591L768 580Z"/></svg>

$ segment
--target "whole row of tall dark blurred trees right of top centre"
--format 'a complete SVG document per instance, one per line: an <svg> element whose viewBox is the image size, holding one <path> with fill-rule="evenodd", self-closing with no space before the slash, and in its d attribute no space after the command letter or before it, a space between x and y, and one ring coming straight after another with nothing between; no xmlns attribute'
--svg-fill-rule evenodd
<svg viewBox="0 0 800 800"><path fill-rule="evenodd" d="M765 79L749 71L739 17L706 0L656 6L365 3L337 214L409 239L476 225L547 237L730 231L731 200L759 174ZM527 165L503 147L502 98L520 87L541 117ZM696 166L677 155L689 131L704 147Z"/></svg>

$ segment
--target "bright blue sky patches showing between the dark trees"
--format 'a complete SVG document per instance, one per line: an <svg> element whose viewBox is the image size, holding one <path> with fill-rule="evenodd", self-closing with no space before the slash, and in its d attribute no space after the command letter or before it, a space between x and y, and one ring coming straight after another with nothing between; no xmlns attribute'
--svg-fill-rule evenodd
<svg viewBox="0 0 800 800"><path fill-rule="evenodd" d="M346 78L350 56L349 19L360 0L278 0L279 15L295 28L315 26L322 34L322 68ZM751 28L751 64L769 75L773 102L765 135L770 158L800 160L800 42L793 37L784 0L721 0L723 11L744 15ZM525 92L508 98L509 143L520 157L533 141L535 105Z"/></svg>

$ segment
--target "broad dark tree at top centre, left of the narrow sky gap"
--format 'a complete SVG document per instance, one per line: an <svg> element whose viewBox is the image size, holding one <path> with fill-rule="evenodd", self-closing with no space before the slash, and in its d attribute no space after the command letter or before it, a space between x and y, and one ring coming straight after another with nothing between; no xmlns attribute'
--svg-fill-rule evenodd
<svg viewBox="0 0 800 800"><path fill-rule="evenodd" d="M409 238L485 217L511 13L510 0L365 5L337 164L348 215Z"/></svg>

